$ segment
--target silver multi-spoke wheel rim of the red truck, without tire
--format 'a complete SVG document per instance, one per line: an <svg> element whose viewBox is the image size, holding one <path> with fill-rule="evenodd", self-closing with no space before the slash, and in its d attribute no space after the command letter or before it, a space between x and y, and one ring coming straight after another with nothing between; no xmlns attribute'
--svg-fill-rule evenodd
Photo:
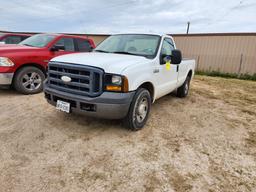
<svg viewBox="0 0 256 192"><path fill-rule="evenodd" d="M33 91L41 86L42 79L40 75L36 72L26 73L22 77L22 85L25 89Z"/></svg>

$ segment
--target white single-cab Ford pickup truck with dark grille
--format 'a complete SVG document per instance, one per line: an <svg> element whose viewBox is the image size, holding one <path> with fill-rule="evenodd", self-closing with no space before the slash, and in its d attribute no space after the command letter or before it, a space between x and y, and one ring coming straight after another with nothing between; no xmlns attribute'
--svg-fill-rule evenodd
<svg viewBox="0 0 256 192"><path fill-rule="evenodd" d="M185 97L195 61L182 60L171 36L112 35L91 53L53 58L44 83L57 109L107 119L124 119L141 129L154 101L177 90Z"/></svg>

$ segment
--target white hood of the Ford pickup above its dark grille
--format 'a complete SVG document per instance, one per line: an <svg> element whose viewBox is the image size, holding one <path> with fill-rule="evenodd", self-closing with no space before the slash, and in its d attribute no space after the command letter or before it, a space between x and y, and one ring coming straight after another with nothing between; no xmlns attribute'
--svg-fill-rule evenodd
<svg viewBox="0 0 256 192"><path fill-rule="evenodd" d="M102 68L107 73L122 74L129 66L152 61L142 56L114 53L75 53L53 58L51 61L88 65Z"/></svg>

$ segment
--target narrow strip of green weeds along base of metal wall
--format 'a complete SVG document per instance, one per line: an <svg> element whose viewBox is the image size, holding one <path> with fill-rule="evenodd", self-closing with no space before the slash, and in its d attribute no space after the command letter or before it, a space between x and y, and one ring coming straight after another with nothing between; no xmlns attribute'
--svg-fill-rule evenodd
<svg viewBox="0 0 256 192"><path fill-rule="evenodd" d="M254 73L253 75L249 75L249 74L222 73L219 71L197 71L196 74L207 75L212 77L224 77L224 78L256 81L256 73Z"/></svg>

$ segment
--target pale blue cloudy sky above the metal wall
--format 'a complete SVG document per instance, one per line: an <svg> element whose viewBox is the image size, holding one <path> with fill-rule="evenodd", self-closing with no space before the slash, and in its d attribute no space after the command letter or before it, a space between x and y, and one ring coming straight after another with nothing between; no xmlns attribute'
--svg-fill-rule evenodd
<svg viewBox="0 0 256 192"><path fill-rule="evenodd" d="M0 0L0 30L255 32L255 0Z"/></svg>

